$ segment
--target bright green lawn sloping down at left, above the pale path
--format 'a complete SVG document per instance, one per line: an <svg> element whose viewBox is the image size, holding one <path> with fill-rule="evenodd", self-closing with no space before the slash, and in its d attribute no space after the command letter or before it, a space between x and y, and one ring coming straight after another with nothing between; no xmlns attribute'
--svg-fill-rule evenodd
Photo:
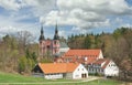
<svg viewBox="0 0 132 85"><path fill-rule="evenodd" d="M38 83L38 82L76 82L73 79L45 79L43 77L23 76L0 72L0 83Z"/></svg>

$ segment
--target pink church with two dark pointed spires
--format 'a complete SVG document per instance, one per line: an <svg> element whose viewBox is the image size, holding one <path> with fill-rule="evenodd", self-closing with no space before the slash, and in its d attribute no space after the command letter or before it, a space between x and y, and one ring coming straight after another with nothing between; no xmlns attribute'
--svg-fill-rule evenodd
<svg viewBox="0 0 132 85"><path fill-rule="evenodd" d="M65 42L59 41L57 24L55 25L55 33L53 40L45 39L43 26L41 28L41 35L38 39L38 54L40 56L44 56L47 53L54 56L61 56L66 53L69 47Z"/></svg>

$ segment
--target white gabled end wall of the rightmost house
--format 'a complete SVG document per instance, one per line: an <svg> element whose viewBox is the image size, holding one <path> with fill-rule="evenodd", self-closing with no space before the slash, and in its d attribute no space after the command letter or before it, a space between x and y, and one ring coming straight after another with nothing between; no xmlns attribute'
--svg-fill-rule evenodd
<svg viewBox="0 0 132 85"><path fill-rule="evenodd" d="M110 62L105 68L105 76L118 76L119 67L114 64L114 62Z"/></svg>

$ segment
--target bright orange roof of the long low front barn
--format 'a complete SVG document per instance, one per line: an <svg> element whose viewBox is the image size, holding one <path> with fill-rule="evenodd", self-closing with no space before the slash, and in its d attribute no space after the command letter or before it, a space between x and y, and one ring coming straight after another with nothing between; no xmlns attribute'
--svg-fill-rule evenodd
<svg viewBox="0 0 132 85"><path fill-rule="evenodd" d="M45 74L74 72L78 65L77 63L38 63Z"/></svg>

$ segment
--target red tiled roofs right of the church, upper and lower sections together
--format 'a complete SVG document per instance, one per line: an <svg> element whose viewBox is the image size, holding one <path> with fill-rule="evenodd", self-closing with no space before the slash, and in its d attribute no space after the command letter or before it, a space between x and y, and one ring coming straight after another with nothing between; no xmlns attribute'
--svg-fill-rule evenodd
<svg viewBox="0 0 132 85"><path fill-rule="evenodd" d="M69 62L78 63L91 63L96 61L101 50L68 50L62 57L64 60L69 59ZM85 60L87 57L87 61Z"/></svg>

